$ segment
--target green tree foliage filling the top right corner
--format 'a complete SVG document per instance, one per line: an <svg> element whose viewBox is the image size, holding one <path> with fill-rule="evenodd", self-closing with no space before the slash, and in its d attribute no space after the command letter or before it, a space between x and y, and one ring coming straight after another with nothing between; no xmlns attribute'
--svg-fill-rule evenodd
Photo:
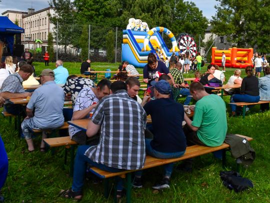
<svg viewBox="0 0 270 203"><path fill-rule="evenodd" d="M237 47L255 47L269 52L270 1L269 0L217 0L217 12L211 24L212 31Z"/></svg>

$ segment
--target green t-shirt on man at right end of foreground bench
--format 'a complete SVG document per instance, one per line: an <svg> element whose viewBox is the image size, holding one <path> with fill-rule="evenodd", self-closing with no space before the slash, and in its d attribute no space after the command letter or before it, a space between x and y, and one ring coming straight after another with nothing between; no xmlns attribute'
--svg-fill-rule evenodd
<svg viewBox="0 0 270 203"><path fill-rule="evenodd" d="M210 94L196 102L192 126L198 127L197 136L209 147L222 145L227 133L225 102Z"/></svg>

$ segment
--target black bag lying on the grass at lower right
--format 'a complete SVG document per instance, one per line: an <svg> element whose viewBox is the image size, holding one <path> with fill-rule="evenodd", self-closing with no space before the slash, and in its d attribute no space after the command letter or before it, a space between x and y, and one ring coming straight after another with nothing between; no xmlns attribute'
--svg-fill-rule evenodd
<svg viewBox="0 0 270 203"><path fill-rule="evenodd" d="M242 178L239 173L234 171L221 171L219 174L223 185L229 190L239 193L248 188L253 188L249 179Z"/></svg>

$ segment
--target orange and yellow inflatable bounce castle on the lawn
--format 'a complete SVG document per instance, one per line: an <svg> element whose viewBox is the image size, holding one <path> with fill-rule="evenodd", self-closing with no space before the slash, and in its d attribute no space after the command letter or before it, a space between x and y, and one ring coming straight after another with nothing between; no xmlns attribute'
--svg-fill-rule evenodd
<svg viewBox="0 0 270 203"><path fill-rule="evenodd" d="M212 47L212 62L211 64L216 64L221 66L222 52L226 56L226 67L231 68L245 68L246 66L252 66L252 48L229 48L228 50L216 50L216 47Z"/></svg>

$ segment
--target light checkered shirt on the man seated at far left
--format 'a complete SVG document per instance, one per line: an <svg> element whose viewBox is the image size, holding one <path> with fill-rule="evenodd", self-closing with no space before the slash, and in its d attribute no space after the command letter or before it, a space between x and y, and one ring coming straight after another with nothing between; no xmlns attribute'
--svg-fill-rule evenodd
<svg viewBox="0 0 270 203"><path fill-rule="evenodd" d="M23 93L24 89L22 86L22 81L23 79L18 73L8 75L3 81L1 92Z"/></svg>

